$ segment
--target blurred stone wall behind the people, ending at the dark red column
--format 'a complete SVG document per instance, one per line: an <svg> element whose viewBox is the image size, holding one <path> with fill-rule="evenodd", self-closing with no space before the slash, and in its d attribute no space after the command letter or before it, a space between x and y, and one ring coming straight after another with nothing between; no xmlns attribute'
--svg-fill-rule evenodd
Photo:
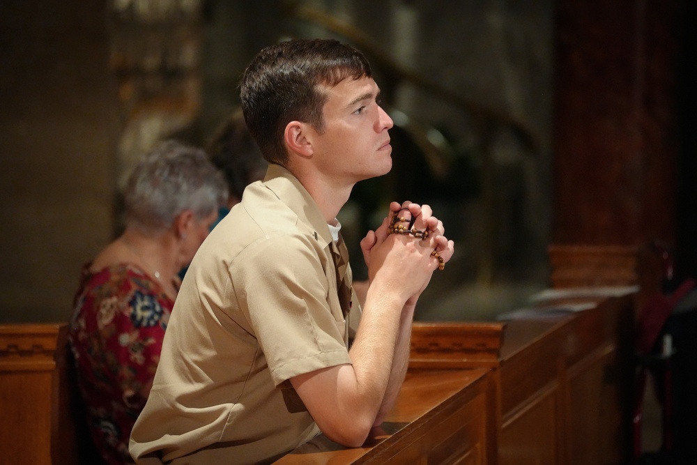
<svg viewBox="0 0 697 465"><path fill-rule="evenodd" d="M373 226L360 199L413 195L458 241L424 302L475 282L544 286L552 3L0 2L1 321L68 319L80 267L118 229L132 162L165 137L204 144L238 104L246 63L290 37L367 52L404 128L400 168L357 188L347 233Z"/></svg>

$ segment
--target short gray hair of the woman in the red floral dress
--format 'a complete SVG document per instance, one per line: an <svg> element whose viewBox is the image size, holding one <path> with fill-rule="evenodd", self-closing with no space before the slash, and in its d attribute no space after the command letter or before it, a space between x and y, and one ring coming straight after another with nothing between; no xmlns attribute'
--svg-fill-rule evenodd
<svg viewBox="0 0 697 465"><path fill-rule="evenodd" d="M160 143L133 169L123 192L126 222L167 229L191 210L201 220L227 201L227 184L206 152L176 140Z"/></svg>

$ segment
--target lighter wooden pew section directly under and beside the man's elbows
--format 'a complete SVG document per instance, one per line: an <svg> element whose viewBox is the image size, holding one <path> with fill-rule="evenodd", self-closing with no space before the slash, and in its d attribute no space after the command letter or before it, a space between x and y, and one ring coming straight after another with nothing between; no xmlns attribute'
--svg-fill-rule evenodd
<svg viewBox="0 0 697 465"><path fill-rule="evenodd" d="M503 327L415 323L410 368L397 403L361 448L344 448L319 436L274 463L496 463L490 370L498 359ZM432 363L435 358L438 363Z"/></svg>

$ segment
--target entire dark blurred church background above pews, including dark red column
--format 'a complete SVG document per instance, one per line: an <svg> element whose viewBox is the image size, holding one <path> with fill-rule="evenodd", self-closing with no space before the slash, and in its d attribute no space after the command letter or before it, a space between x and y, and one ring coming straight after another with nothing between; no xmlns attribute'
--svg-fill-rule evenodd
<svg viewBox="0 0 697 465"><path fill-rule="evenodd" d="M660 241L697 275L696 18L687 0L0 2L0 319L68 319L135 160L204 144L245 64L291 37L366 52L397 123L347 241L410 199L457 242L418 319L525 305L552 243Z"/></svg>

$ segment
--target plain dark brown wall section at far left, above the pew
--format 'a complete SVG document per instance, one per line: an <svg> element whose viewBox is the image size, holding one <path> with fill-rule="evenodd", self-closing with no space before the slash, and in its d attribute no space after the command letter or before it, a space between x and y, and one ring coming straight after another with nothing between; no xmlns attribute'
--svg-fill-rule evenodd
<svg viewBox="0 0 697 465"><path fill-rule="evenodd" d="M0 321L67 321L112 234L121 121L106 3L0 2Z"/></svg>

